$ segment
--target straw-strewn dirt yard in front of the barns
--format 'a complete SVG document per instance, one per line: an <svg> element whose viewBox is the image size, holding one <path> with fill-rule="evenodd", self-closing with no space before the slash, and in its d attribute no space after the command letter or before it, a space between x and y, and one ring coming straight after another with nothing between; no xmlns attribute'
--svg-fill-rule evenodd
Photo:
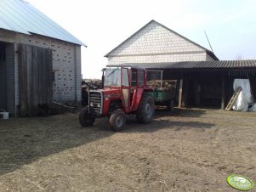
<svg viewBox="0 0 256 192"><path fill-rule="evenodd" d="M0 120L0 191L237 191L231 173L256 184L256 113L156 110L120 133L77 114Z"/></svg>

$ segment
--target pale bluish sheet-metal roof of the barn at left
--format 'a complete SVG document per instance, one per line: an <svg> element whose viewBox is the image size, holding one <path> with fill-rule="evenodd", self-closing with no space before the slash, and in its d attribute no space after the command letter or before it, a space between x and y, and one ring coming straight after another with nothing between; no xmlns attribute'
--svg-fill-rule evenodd
<svg viewBox="0 0 256 192"><path fill-rule="evenodd" d="M34 33L86 46L30 3L22 0L1 0L0 6L2 29L27 35Z"/></svg>

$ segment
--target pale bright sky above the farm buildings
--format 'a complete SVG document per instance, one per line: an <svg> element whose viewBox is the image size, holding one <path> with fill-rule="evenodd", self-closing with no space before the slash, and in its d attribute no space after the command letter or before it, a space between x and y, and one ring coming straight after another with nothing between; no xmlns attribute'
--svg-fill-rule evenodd
<svg viewBox="0 0 256 192"><path fill-rule="evenodd" d="M26 0L82 47L82 77L100 78L105 54L151 20L210 49L221 60L256 59L256 0Z"/></svg>

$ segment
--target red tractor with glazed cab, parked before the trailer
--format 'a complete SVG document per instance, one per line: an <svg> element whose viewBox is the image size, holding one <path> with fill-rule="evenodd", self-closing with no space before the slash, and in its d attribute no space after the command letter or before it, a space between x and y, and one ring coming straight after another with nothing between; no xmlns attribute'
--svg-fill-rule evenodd
<svg viewBox="0 0 256 192"><path fill-rule="evenodd" d="M146 71L131 66L110 66L103 70L104 88L88 92L88 107L79 115L82 127L94 125L95 118L108 116L111 128L121 131L126 115L135 114L140 123L154 115L152 88L146 85Z"/></svg>

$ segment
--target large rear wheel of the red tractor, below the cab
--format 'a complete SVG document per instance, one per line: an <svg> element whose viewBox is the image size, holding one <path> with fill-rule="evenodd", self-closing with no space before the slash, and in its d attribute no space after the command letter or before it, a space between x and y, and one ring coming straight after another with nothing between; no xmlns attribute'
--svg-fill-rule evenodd
<svg viewBox="0 0 256 192"><path fill-rule="evenodd" d="M155 112L155 101L150 95L142 96L139 109L136 113L136 119L140 123L149 123Z"/></svg>

